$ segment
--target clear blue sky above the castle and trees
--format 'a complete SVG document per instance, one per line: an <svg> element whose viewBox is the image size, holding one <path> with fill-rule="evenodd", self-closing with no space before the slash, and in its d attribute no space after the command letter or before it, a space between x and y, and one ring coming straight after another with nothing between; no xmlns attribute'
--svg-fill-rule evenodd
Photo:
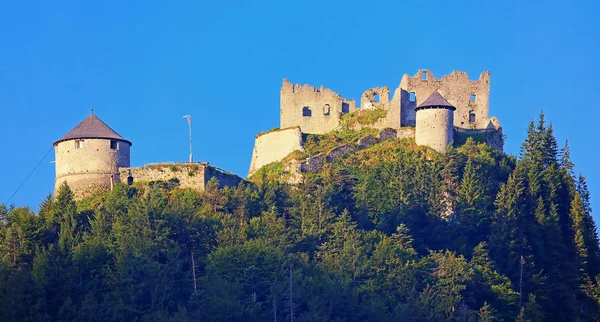
<svg viewBox="0 0 600 322"><path fill-rule="evenodd" d="M132 166L185 161L191 114L195 158L245 176L254 135L279 125L282 78L359 98L426 68L491 70L509 154L544 109L600 214L598 12L597 1L0 1L0 202L90 104L133 142ZM52 191L52 160L15 205L37 209Z"/></svg>

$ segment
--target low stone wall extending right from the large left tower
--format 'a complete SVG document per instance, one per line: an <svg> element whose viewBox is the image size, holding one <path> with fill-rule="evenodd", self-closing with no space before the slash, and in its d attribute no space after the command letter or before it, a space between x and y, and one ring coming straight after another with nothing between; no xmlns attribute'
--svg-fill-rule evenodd
<svg viewBox="0 0 600 322"><path fill-rule="evenodd" d="M131 172L133 182L164 181L177 188L192 188L203 191L206 183L213 177L219 180L221 188L237 186L242 180L235 174L208 165L208 163L192 164L159 164L137 168L119 169L121 183L127 183Z"/></svg>

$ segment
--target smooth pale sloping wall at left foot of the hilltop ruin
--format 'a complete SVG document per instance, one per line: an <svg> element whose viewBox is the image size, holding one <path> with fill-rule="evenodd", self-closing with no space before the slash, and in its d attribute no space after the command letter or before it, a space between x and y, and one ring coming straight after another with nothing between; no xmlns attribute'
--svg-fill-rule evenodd
<svg viewBox="0 0 600 322"><path fill-rule="evenodd" d="M304 152L300 127L296 126L257 135L248 176L269 163L281 161L296 150Z"/></svg>

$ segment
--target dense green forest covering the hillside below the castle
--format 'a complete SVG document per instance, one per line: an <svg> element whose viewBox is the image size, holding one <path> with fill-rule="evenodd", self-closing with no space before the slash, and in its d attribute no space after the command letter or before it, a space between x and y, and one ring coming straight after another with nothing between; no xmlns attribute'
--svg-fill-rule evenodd
<svg viewBox="0 0 600 322"><path fill-rule="evenodd" d="M585 177L543 114L518 158L389 140L289 185L0 205L1 321L599 321Z"/></svg>

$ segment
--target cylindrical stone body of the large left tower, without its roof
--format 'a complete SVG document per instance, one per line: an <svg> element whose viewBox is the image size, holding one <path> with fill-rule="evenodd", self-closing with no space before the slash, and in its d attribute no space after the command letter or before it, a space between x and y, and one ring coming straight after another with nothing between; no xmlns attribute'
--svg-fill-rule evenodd
<svg viewBox="0 0 600 322"><path fill-rule="evenodd" d="M83 139L83 147L76 148L77 140L55 145L56 195L63 182L67 182L77 200L110 189L111 180L119 182L119 167L129 167L130 145L117 141L111 149L111 140Z"/></svg>

